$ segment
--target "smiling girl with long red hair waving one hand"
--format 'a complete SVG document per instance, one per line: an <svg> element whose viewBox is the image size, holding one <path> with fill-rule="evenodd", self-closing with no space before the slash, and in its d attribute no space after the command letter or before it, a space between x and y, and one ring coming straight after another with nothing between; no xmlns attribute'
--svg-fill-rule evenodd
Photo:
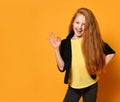
<svg viewBox="0 0 120 102"><path fill-rule="evenodd" d="M74 14L66 39L50 35L58 69L66 71L68 90L63 102L96 102L99 74L111 61L115 51L100 35L94 14L80 8Z"/></svg>

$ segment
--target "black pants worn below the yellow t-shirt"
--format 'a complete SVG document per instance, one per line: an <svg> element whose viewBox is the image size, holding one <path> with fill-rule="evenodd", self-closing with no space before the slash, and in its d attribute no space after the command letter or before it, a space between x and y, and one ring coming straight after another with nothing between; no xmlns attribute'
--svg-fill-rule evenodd
<svg viewBox="0 0 120 102"><path fill-rule="evenodd" d="M69 86L63 102L79 102L81 96L83 102L96 102L97 89L97 83L83 89L74 89Z"/></svg>

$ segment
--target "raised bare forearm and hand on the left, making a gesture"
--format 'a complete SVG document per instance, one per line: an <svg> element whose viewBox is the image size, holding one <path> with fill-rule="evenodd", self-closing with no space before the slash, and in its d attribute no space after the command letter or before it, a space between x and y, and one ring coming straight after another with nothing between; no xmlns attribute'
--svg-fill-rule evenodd
<svg viewBox="0 0 120 102"><path fill-rule="evenodd" d="M58 68L60 71L63 71L64 61L63 61L61 54L60 54L61 39L60 39L60 37L55 37L53 34L50 34L49 39L50 39L50 42L54 48Z"/></svg>

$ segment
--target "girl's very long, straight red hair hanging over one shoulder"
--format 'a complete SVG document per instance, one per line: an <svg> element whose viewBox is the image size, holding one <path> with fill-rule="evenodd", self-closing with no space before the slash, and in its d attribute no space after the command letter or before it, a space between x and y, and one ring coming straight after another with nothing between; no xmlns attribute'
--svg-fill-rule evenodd
<svg viewBox="0 0 120 102"><path fill-rule="evenodd" d="M91 10L80 8L77 10L71 20L69 33L73 31L73 22L78 14L85 16L86 24L83 34L82 51L89 74L101 72L105 65L105 56L103 54L103 41L101 38L99 25Z"/></svg>

